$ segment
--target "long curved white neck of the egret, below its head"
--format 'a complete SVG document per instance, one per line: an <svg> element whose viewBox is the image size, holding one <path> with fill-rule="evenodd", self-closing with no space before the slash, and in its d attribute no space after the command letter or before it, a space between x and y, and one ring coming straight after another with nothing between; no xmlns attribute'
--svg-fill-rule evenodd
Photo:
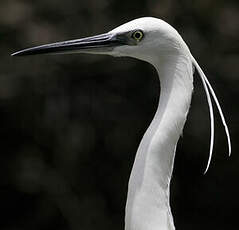
<svg viewBox="0 0 239 230"><path fill-rule="evenodd" d="M193 91L188 55L153 63L161 85L157 112L140 143L130 175L125 230L173 230L169 187L177 141Z"/></svg>

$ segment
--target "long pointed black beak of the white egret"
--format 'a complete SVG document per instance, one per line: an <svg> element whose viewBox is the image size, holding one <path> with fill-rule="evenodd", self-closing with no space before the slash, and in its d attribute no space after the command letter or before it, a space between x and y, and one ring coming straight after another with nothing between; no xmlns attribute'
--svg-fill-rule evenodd
<svg viewBox="0 0 239 230"><path fill-rule="evenodd" d="M107 54L114 47L125 45L126 41L122 36L115 34L101 34L97 36L56 42L47 45L36 46L13 53L12 56L24 56L35 54L54 54L54 53L99 53Z"/></svg>

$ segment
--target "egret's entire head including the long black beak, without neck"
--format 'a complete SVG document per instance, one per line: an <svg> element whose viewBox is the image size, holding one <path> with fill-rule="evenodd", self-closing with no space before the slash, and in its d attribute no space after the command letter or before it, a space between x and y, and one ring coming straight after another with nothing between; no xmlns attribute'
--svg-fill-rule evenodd
<svg viewBox="0 0 239 230"><path fill-rule="evenodd" d="M144 17L125 23L108 33L41 45L18 51L13 56L53 53L93 53L128 56L151 62L185 50L178 32L163 20Z"/></svg>

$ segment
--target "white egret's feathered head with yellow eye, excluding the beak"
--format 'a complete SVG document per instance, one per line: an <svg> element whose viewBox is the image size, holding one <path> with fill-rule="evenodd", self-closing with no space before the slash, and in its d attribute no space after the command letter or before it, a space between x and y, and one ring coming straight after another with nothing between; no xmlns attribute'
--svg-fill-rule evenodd
<svg viewBox="0 0 239 230"><path fill-rule="evenodd" d="M126 45L115 47L112 54L152 63L152 60L184 52L187 46L179 33L161 19L144 17L125 23L110 34L122 36Z"/></svg>

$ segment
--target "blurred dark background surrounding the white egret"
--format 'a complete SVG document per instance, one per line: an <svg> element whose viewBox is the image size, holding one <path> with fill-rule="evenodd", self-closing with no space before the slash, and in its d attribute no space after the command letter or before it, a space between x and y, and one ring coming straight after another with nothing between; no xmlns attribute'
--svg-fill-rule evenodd
<svg viewBox="0 0 239 230"><path fill-rule="evenodd" d="M238 0L1 0L0 15L0 229L124 229L130 170L158 103L155 70L130 58L10 54L141 16L180 32L214 86L232 137L228 158L217 115L204 176L210 124L196 74L171 185L176 228L237 229Z"/></svg>

